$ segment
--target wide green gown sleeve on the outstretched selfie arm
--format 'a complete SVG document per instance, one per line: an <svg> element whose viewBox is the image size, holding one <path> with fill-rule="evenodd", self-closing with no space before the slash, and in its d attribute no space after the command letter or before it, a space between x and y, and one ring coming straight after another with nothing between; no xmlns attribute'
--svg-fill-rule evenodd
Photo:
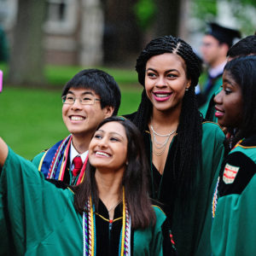
<svg viewBox="0 0 256 256"><path fill-rule="evenodd" d="M10 148L0 177L0 198L0 224L7 227L1 228L1 236L9 237L9 245L0 241L1 250L10 255L82 253L81 218L74 210L72 191L45 181L31 161Z"/></svg>

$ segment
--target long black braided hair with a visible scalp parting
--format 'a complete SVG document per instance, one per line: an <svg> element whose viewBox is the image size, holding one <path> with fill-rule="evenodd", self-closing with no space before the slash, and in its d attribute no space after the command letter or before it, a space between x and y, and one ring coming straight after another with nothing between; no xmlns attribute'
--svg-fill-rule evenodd
<svg viewBox="0 0 256 256"><path fill-rule="evenodd" d="M138 80L144 86L147 61L154 55L173 53L183 58L186 76L191 79L189 90L183 97L183 105L177 127L177 150L173 161L173 172L177 177L177 188L186 195L195 185L196 166L201 161L201 113L197 108L195 86L201 73L201 61L189 44L180 38L165 36L152 40L137 58ZM152 114L152 103L143 90L142 101L132 121L144 131Z"/></svg>

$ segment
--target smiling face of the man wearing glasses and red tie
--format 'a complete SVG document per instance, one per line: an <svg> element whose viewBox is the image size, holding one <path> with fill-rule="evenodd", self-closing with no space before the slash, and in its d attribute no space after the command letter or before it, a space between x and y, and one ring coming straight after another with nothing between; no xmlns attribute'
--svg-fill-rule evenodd
<svg viewBox="0 0 256 256"><path fill-rule="evenodd" d="M100 98L93 90L84 88L70 88L67 96L84 98L93 95ZM74 137L90 137L100 124L102 119L111 116L113 108L101 108L101 102L96 101L93 105L82 105L77 99L72 105L63 104L62 119L67 126L67 130Z"/></svg>

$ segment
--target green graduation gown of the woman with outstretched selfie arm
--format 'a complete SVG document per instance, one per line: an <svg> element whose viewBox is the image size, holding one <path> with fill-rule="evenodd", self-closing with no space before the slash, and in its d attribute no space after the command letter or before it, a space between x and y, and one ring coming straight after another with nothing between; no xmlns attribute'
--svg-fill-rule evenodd
<svg viewBox="0 0 256 256"><path fill-rule="evenodd" d="M0 177L0 199L0 224L4 224L0 232L1 237L5 237L0 241L2 255L82 255L83 218L73 207L73 191L58 189L45 181L36 166L10 148ZM107 210L102 206L99 213L104 216L104 211ZM166 215L159 207L154 207L154 212L154 227L131 231L131 255L164 254L162 227ZM102 219L96 218L96 244L97 248L102 248L102 253L97 255L117 255L109 253L109 247L104 245L115 244L110 237L119 238L121 226L117 225L109 235L106 221ZM107 230L106 236L101 239L104 230Z"/></svg>

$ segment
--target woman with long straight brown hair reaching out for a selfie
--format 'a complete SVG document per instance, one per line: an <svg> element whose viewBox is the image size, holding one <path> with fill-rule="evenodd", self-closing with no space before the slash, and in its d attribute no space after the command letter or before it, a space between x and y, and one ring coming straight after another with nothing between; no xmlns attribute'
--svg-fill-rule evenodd
<svg viewBox="0 0 256 256"><path fill-rule="evenodd" d="M176 255L166 215L148 198L140 137L129 120L104 119L84 182L71 188L45 181L0 138L0 254Z"/></svg>

